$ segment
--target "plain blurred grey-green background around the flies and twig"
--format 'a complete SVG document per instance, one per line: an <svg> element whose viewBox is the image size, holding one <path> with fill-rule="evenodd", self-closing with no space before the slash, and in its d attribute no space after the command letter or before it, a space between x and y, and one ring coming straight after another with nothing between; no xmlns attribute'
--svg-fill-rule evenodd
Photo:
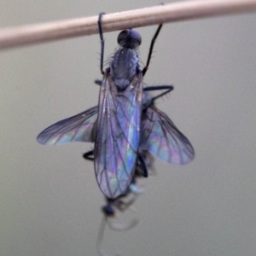
<svg viewBox="0 0 256 256"><path fill-rule="evenodd" d="M1 26L138 9L158 1L17 1L0 3ZM139 28L146 61L156 26ZM105 34L106 59L118 32ZM42 146L36 137L58 120L95 106L98 36L0 53L0 255L96 254L103 197L90 143ZM188 20L163 27L145 82L173 84L157 102L189 137L195 160L155 160L156 176L129 231L106 230L108 255L256 255L256 14Z"/></svg>

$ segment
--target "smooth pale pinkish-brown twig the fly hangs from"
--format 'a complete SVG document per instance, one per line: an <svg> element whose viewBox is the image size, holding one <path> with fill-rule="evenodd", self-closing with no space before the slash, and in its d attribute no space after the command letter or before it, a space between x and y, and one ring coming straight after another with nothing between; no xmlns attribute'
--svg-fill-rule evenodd
<svg viewBox="0 0 256 256"><path fill-rule="evenodd" d="M255 0L195 0L136 9L102 17L103 32L218 15L256 11ZM0 30L0 49L98 33L98 16Z"/></svg>

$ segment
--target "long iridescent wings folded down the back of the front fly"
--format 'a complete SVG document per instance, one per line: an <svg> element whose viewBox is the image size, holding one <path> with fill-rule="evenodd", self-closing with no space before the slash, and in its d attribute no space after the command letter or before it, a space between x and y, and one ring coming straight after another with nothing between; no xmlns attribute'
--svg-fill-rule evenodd
<svg viewBox="0 0 256 256"><path fill-rule="evenodd" d="M142 98L141 73L122 91L106 73L99 96L94 164L97 183L110 199L125 193L135 171Z"/></svg>

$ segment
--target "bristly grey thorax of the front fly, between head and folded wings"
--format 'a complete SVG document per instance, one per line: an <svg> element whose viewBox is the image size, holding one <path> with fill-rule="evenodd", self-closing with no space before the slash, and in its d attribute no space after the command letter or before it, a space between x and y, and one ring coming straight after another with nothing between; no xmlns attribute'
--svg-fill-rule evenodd
<svg viewBox="0 0 256 256"><path fill-rule="evenodd" d="M110 75L113 78L114 84L116 84L120 90L125 89L125 87L131 83L138 69L138 55L136 50L122 48L113 55Z"/></svg>

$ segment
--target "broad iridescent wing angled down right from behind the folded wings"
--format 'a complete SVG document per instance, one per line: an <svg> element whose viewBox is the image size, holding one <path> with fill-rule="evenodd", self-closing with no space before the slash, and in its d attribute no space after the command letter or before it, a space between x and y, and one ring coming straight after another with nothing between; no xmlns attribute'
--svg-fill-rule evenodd
<svg viewBox="0 0 256 256"><path fill-rule="evenodd" d="M141 148L174 165L184 165L194 159L194 148L166 113L148 108L142 122Z"/></svg>

